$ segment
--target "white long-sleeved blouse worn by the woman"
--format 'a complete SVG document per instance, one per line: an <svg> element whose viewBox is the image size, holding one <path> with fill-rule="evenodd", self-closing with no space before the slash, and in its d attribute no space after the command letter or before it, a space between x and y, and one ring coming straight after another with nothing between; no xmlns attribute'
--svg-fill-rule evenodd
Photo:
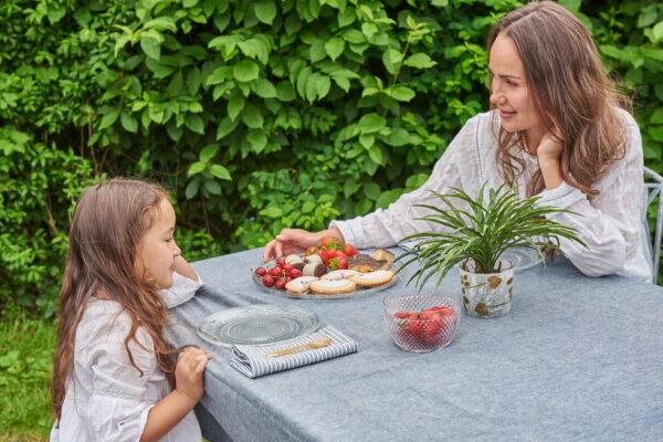
<svg viewBox="0 0 663 442"><path fill-rule="evenodd" d="M562 224L578 229L582 245L561 239L562 253L588 276L623 275L640 281L652 281L652 264L644 244L643 210L644 185L642 140L633 117L619 109L624 122L627 152L612 165L610 171L593 188L600 193L592 200L566 182L558 188L539 193L539 204L555 206L580 213L549 215ZM418 221L431 211L415 204L440 204L431 190L439 193L460 188L471 196L478 193L484 181L492 188L504 183L495 154L499 128L495 110L471 118L451 141L438 160L429 180L419 189L402 194L386 210L378 209L365 217L348 221L333 221L347 242L356 248L386 248L401 242L410 234L440 231L440 225ZM518 177L518 191L525 196L527 182L538 170L535 156L522 152L525 171Z"/></svg>

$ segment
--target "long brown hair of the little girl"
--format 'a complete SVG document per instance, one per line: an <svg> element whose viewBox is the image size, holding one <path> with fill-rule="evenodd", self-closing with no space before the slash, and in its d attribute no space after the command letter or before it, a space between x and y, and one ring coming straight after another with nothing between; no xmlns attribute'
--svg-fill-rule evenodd
<svg viewBox="0 0 663 442"><path fill-rule="evenodd" d="M164 338L168 312L157 287L137 274L137 248L167 198L164 189L143 181L112 179L86 189L81 196L70 229L70 248L59 298L57 346L51 394L60 419L66 382L73 371L76 328L91 297L102 295L117 302L129 315L129 343L143 327L152 338L157 364L172 385L173 349Z"/></svg>

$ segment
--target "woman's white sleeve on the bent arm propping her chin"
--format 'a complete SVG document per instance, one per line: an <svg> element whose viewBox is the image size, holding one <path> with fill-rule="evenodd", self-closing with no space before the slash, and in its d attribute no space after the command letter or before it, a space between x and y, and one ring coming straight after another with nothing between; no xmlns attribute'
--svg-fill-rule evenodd
<svg viewBox="0 0 663 442"><path fill-rule="evenodd" d="M572 228L589 250L570 240L560 240L564 254L588 276L627 274L646 281L651 278L649 262L643 260L642 210L644 186L642 178L642 140L633 118L625 119L627 152L596 186L600 192L593 200L566 182L545 190L539 204L568 209L578 214L555 213L551 219ZM644 267L628 262L639 262Z"/></svg>

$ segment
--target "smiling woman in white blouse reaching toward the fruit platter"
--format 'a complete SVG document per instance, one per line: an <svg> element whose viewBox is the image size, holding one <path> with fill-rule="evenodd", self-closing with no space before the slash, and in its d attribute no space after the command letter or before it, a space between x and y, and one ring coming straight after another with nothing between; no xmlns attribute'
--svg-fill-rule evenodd
<svg viewBox="0 0 663 442"><path fill-rule="evenodd" d="M561 251L586 275L651 281L641 227L642 141L633 117L602 70L597 46L564 7L541 1L506 14L488 35L492 110L470 119L430 179L387 210L328 230L284 229L264 259L296 253L332 235L357 248L391 246L435 229L423 221L431 190L476 194L505 181L522 196L580 215L554 219L580 231L589 250L562 240ZM622 106L622 107L620 107Z"/></svg>

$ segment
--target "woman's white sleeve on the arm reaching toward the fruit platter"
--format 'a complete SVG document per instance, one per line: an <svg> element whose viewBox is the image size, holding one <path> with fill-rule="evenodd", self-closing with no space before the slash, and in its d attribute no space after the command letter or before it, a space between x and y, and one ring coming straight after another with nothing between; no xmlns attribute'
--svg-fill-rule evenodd
<svg viewBox="0 0 663 442"><path fill-rule="evenodd" d="M428 181L419 189L402 194L387 209L347 221L335 220L329 228L337 228L345 241L358 249L388 248L414 233L441 231L439 224L417 220L431 212L417 204L440 206L431 190L449 193L452 187L463 189L463 180L478 182L477 156L473 149L476 147L478 118L473 117L463 126L435 164Z"/></svg>

